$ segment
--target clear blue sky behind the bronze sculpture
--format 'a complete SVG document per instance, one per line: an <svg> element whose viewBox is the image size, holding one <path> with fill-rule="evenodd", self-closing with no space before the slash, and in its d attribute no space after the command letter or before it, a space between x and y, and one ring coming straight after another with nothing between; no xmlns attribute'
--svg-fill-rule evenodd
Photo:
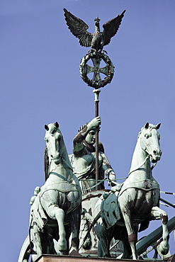
<svg viewBox="0 0 175 262"><path fill-rule="evenodd" d="M58 121L67 151L78 128L94 118L93 89L81 80L81 47L64 21L63 8L89 25L126 9L118 34L104 50L115 65L101 89L103 142L118 178L127 176L137 133L162 123L162 159L154 169L161 190L174 192L175 2L171 0L4 0L0 10L1 261L17 261L28 234L30 197L44 183L44 125ZM161 195L175 203L174 195ZM161 207L169 218L175 210ZM151 226L149 234L159 222ZM171 237L171 253L175 253Z"/></svg>

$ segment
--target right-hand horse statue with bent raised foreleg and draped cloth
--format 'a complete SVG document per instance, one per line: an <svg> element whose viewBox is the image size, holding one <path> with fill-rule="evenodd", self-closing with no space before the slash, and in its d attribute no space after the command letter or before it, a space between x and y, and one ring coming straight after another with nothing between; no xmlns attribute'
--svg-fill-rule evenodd
<svg viewBox="0 0 175 262"><path fill-rule="evenodd" d="M128 178L120 190L113 188L111 194L104 195L104 200L96 204L96 214L101 210L101 219L96 223L96 234L99 239L98 256L110 257L111 239L123 240L125 249L123 258L137 259L135 244L139 232L145 230L150 220L161 220L163 241L160 244L162 254L169 251L168 217L159 208L159 184L152 176L152 163L161 158L159 149L160 135L157 132L160 124L146 123L138 135L135 152ZM103 223L102 223L103 221Z"/></svg>

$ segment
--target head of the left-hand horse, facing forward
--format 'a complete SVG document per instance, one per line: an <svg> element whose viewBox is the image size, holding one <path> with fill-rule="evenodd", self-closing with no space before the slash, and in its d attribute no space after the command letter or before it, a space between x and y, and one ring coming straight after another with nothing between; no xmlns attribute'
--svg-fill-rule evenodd
<svg viewBox="0 0 175 262"><path fill-rule="evenodd" d="M62 141L62 133L59 130L59 124L51 123L45 125L45 142L47 146L47 152L50 161L54 161L55 164L60 164L60 142Z"/></svg>

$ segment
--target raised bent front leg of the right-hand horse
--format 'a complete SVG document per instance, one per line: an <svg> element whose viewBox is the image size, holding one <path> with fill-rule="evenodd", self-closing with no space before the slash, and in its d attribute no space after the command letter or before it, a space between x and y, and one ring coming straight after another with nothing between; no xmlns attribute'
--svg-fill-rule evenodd
<svg viewBox="0 0 175 262"><path fill-rule="evenodd" d="M166 212L159 207L152 207L151 211L152 220L161 220L162 222L162 239L163 241L159 245L159 251L162 255L166 255L169 252L169 230L167 226L168 216Z"/></svg>

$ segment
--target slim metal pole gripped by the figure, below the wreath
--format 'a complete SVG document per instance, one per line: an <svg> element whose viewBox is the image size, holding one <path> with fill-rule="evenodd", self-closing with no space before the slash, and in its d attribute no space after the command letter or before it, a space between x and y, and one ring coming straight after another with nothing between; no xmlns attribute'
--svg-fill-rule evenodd
<svg viewBox="0 0 175 262"><path fill-rule="evenodd" d="M101 92L99 89L94 89L93 90L94 95L95 95L95 117L98 116L98 97L99 97L99 93ZM98 171L98 132L99 132L99 128L96 127L96 184L98 183L98 179L99 179L99 171ZM98 186L96 186L96 190L98 190Z"/></svg>

